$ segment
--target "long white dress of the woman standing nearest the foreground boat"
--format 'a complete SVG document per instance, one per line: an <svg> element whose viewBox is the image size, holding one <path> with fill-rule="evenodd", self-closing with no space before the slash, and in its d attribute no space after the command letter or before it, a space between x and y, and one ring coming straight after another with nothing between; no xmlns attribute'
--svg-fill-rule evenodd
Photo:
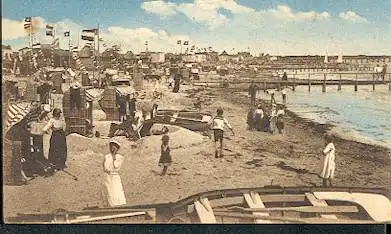
<svg viewBox="0 0 391 234"><path fill-rule="evenodd" d="M113 156L107 154L103 163L106 171L103 195L106 203L105 205L110 207L126 204L125 193L122 187L121 177L119 176L119 170L123 161L124 157L122 155L117 154L114 161Z"/></svg>

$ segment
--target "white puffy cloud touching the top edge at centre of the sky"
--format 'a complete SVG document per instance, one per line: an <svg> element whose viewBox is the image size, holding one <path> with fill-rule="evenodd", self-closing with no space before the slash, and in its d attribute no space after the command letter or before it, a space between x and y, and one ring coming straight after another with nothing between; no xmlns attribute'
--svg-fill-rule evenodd
<svg viewBox="0 0 391 234"><path fill-rule="evenodd" d="M190 20L205 23L209 29L215 29L228 22L228 17L219 13L220 9L232 14L255 12L254 9L240 5L234 0L194 0L193 3L173 3L159 1L144 2L141 8L160 16L172 16L182 13Z"/></svg>

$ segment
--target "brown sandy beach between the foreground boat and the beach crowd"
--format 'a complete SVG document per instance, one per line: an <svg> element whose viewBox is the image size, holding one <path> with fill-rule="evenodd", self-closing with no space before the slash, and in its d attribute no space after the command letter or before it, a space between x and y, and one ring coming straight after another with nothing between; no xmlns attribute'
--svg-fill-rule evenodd
<svg viewBox="0 0 391 234"><path fill-rule="evenodd" d="M128 205L176 201L194 193L237 187L320 186L323 134L329 126L306 121L288 111L286 134L271 135L246 129L249 100L230 89L183 86L179 94L166 91L159 108L185 109L201 97L202 111L215 114L217 107L235 129L226 133L224 159L214 158L212 139L179 127L170 128L174 163L168 175L158 167L161 136L130 142L116 137L126 160L121 178ZM101 121L104 113L94 110L94 125L107 136L110 123ZM160 127L160 126L156 126ZM45 149L49 137L45 136ZM4 186L5 218L17 213L52 212L55 209L80 210L101 204L102 161L108 153L108 139L67 137L68 171L47 178L37 177L24 186ZM335 186L391 188L391 152L337 138ZM47 151L46 151L47 152Z"/></svg>

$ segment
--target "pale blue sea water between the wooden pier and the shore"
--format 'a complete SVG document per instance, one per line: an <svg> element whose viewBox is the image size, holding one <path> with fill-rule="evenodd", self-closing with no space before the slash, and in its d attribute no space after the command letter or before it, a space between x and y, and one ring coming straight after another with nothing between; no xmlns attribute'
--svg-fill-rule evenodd
<svg viewBox="0 0 391 234"><path fill-rule="evenodd" d="M321 86L298 86L287 89L287 108L303 118L335 126L332 131L342 137L364 143L391 148L391 92L388 85L327 86L322 93ZM257 97L270 99L263 91ZM282 103L280 92L276 101Z"/></svg>

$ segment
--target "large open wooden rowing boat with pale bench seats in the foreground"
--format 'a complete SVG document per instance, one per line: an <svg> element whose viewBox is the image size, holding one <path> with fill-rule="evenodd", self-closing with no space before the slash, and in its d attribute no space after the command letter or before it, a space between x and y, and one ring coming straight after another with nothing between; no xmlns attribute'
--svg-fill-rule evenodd
<svg viewBox="0 0 391 234"><path fill-rule="evenodd" d="M19 214L9 223L390 223L379 188L267 186L198 193L165 204Z"/></svg>

